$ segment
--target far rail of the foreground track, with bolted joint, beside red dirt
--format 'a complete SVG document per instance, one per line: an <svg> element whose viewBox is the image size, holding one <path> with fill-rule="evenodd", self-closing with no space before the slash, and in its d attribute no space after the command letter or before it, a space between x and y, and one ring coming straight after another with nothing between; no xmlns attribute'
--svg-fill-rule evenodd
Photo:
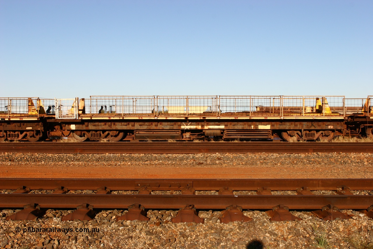
<svg viewBox="0 0 373 249"><path fill-rule="evenodd" d="M29 187L31 190L54 190L64 187L68 190L97 190L99 187L115 190L182 190L191 187L195 190L219 190L223 187L233 191L256 191L267 187L271 190L297 190L307 187L310 190L337 190L347 186L351 190L373 190L373 179L46 179L46 178L0 178L0 189Z"/></svg>

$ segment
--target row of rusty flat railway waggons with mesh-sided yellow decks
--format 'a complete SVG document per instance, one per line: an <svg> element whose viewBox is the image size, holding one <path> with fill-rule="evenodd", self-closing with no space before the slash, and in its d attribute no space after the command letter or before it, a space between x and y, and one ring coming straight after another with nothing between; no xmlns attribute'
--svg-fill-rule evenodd
<svg viewBox="0 0 373 249"><path fill-rule="evenodd" d="M372 96L0 98L0 141L373 138Z"/></svg>

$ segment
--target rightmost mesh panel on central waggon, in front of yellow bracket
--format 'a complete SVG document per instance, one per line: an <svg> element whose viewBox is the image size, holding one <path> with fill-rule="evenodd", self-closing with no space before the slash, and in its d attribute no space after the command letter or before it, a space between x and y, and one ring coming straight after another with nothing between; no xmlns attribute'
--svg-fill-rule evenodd
<svg viewBox="0 0 373 249"><path fill-rule="evenodd" d="M283 116L344 114L344 96L282 96Z"/></svg>

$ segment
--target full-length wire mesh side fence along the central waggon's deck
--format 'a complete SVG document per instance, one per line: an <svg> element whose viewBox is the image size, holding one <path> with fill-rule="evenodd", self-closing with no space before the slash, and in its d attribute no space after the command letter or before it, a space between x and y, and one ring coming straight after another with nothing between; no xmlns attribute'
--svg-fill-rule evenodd
<svg viewBox="0 0 373 249"><path fill-rule="evenodd" d="M86 113L110 115L342 115L343 96L91 96Z"/></svg>

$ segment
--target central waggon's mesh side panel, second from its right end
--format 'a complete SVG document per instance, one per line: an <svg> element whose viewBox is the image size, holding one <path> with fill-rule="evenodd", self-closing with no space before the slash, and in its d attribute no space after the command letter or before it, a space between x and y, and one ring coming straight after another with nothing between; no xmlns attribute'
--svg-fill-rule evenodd
<svg viewBox="0 0 373 249"><path fill-rule="evenodd" d="M280 96L219 96L219 109L223 115L279 115L280 104Z"/></svg>

